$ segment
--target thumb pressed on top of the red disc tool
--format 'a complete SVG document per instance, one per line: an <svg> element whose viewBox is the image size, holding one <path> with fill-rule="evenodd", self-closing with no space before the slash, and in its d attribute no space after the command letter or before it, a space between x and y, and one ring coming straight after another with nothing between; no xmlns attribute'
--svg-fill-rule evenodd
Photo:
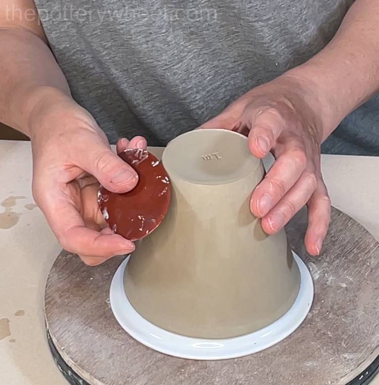
<svg viewBox="0 0 379 385"><path fill-rule="evenodd" d="M109 145L104 142L97 142L92 146L80 163L85 171L113 192L127 192L138 182L136 171L112 152Z"/></svg>

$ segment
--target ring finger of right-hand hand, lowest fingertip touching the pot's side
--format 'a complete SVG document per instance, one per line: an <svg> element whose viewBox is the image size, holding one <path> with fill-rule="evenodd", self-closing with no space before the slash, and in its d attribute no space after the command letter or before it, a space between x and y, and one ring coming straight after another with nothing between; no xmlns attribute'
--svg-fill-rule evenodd
<svg viewBox="0 0 379 385"><path fill-rule="evenodd" d="M263 230L267 234L278 232L309 201L316 188L316 175L304 171L279 203L262 218Z"/></svg>

